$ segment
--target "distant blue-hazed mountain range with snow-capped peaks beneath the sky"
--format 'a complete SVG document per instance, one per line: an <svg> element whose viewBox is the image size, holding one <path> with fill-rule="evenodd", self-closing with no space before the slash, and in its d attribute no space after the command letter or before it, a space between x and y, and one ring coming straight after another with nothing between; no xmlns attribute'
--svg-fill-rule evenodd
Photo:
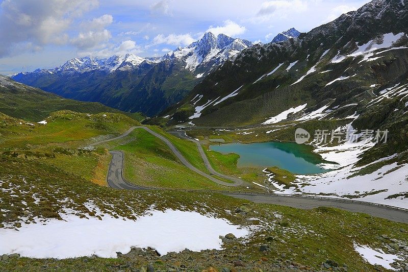
<svg viewBox="0 0 408 272"><path fill-rule="evenodd" d="M247 40L208 32L161 58L133 54L74 58L53 69L22 72L12 78L66 98L156 115L182 100L215 67L251 45Z"/></svg>

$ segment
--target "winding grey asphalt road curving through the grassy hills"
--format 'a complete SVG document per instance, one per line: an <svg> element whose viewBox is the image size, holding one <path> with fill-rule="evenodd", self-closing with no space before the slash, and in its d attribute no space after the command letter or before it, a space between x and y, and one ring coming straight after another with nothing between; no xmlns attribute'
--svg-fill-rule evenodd
<svg viewBox="0 0 408 272"><path fill-rule="evenodd" d="M196 169L181 155L181 153L175 148L175 146L169 140L167 140L162 135L157 134L156 132L146 127L133 127L129 131L125 132L124 134L116 138L110 139L110 140L125 137L126 135L128 135L130 132L132 132L136 128L145 129L149 133L162 139L170 147L170 149L174 152L174 154L183 162L184 165L186 165L190 169L192 168ZM107 142L110 140L105 140L101 142ZM101 143L101 142L98 142L98 143ZM98 143L95 143L95 144L98 144ZM123 174L122 174L123 172L123 153L121 151L112 151L110 153L113 155L111 164L109 166L109 172L108 172L108 177L107 177L107 181L110 187L115 188L115 189L126 189L126 190L158 189L158 188L149 188L149 187L144 187L144 186L132 185L129 182L127 182L123 178ZM202 156L201 152L200 154ZM205 158L203 157L203 160L206 161L206 156ZM195 172L197 172L198 174L202 173L205 175L205 177L209 176L208 174L198 169L196 169ZM209 177L212 178L211 176ZM219 182L220 181L218 181L217 183ZM226 184L230 186L232 185L231 183L226 183ZM199 192L200 190L185 190L185 191ZM397 222L408 223L408 210L398 209L398 208L390 207L386 205L377 205L373 203L360 202L360 201L333 199L330 197L277 195L277 194L272 194L272 193L257 193L257 192L232 192L232 191L215 191L215 192L237 197L239 199L246 199L246 200L256 202L256 203L276 204L276 205L283 205L283 206L289 206L289 207L300 208L300 209L313 209L313 208L317 208L321 206L334 207L334 208L339 208L339 209L352 211L352 212L367 213L373 216L386 218L386 219L390 219L390 220L397 221Z"/></svg>

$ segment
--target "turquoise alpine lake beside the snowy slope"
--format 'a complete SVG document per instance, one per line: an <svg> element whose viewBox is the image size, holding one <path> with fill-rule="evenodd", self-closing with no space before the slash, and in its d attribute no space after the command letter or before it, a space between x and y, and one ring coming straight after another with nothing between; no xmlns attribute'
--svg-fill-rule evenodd
<svg viewBox="0 0 408 272"><path fill-rule="evenodd" d="M313 153L309 145L292 142L225 143L210 145L210 149L222 154L238 154L238 167L277 166L300 175L327 171L318 166L327 162Z"/></svg>

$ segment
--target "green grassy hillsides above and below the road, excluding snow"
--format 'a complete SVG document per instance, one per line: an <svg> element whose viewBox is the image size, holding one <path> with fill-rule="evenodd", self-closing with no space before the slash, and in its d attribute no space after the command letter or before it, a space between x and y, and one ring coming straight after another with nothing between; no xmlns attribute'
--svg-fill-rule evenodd
<svg viewBox="0 0 408 272"><path fill-rule="evenodd" d="M346 264L348 271L371 271L374 266L354 252L353 242L394 253L389 245L390 239L398 243L405 243L408 239L407 233L402 231L408 228L406 224L337 209L318 208L305 213L299 209L254 204L218 194L174 190L126 191L100 186L106 179L110 161L108 150L104 147L94 150L81 147L114 137L138 124L134 119L117 113L88 115L59 111L50 114L46 125L36 123L32 126L21 119L1 114L0 227L18 229L22 222L34 224L39 220L46 224L47 218L61 218L67 211L80 217L98 216L87 208L92 203L105 214L127 219L134 219L151 207L158 210L195 210L250 227L253 230L251 235L243 240L227 242L221 252L183 252L172 257L154 254L134 256L131 252L129 256L123 255L118 259L11 258L0 262L0 270L40 271L47 267L55 271L118 271L140 269L151 262L156 269L162 270L171 265L193 269L194 264L200 266L199 271L210 267L218 271L222 267L233 268L233 261L240 260L248 270L282 271L293 264L318 269L322 262L333 260L340 267ZM155 130L160 131L158 128ZM167 135L163 131L160 133ZM167 137L177 142L177 147L183 152L193 149L181 140ZM188 184L190 188L208 188L205 180L182 167L167 146L145 131L137 130L127 138L112 142L111 147L124 150L126 162L133 165L126 170L129 179L143 181L140 178L145 177L137 172L140 170L156 184L172 183L174 186L177 182L180 187ZM215 156L211 159L213 165L218 165L228 174L242 174L236 172L234 166L228 166L236 164L237 157L213 152L209 156ZM189 160L196 159L196 153L192 152ZM199 165L198 162L196 164ZM388 238L378 238L379 235ZM260 251L260 245L265 245L268 250ZM405 254L405 249L399 251Z"/></svg>

